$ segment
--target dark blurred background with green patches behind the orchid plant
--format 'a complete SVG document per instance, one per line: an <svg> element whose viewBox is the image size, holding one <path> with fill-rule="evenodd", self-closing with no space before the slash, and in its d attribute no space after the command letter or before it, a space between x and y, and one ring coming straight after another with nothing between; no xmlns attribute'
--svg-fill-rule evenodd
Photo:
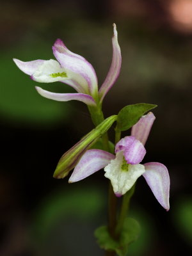
<svg viewBox="0 0 192 256"><path fill-rule="evenodd" d="M171 179L169 212L138 180L129 215L140 221L141 235L129 255L191 255L192 1L9 0L1 2L0 21L0 255L104 255L93 237L107 218L104 173L76 184L52 178L61 155L93 128L86 106L40 97L39 84L12 58L54 58L52 44L61 38L92 63L100 86L111 63L113 22L122 70L104 113L157 104L144 163L164 163ZM73 92L60 83L40 86Z"/></svg>

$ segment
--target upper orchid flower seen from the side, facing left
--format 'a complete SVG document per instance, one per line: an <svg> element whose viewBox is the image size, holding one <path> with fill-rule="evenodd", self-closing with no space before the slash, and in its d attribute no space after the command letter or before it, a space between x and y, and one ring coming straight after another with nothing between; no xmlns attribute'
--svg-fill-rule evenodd
<svg viewBox="0 0 192 256"><path fill-rule="evenodd" d="M68 101L80 100L88 106L97 106L115 83L121 67L121 52L118 45L116 25L113 24L113 58L108 75L98 92L97 76L92 65L82 56L67 49L58 39L52 47L56 60L20 61L13 59L17 67L40 83L60 81L72 86L77 93L53 93L36 86L40 95L47 99Z"/></svg>

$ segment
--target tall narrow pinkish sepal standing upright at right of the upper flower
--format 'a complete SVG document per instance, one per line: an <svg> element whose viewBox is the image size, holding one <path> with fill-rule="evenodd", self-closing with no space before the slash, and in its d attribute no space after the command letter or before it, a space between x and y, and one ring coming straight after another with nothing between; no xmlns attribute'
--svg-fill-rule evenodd
<svg viewBox="0 0 192 256"><path fill-rule="evenodd" d="M114 31L114 35L112 38L113 59L112 59L111 67L109 68L108 75L99 90L100 101L104 99L106 93L108 93L108 91L111 89L111 87L115 83L120 73L120 68L122 65L122 56L121 56L120 46L118 45L117 31L116 31L115 24L113 24L113 31Z"/></svg>

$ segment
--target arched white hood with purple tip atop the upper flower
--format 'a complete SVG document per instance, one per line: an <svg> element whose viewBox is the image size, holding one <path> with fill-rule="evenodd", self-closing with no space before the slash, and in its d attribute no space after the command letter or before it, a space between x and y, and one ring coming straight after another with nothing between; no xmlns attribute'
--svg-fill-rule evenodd
<svg viewBox="0 0 192 256"><path fill-rule="evenodd" d="M61 40L56 40L52 47L53 54L61 67L71 71L71 78L84 88L85 93L97 95L97 76L92 65L78 54L70 52Z"/></svg>

